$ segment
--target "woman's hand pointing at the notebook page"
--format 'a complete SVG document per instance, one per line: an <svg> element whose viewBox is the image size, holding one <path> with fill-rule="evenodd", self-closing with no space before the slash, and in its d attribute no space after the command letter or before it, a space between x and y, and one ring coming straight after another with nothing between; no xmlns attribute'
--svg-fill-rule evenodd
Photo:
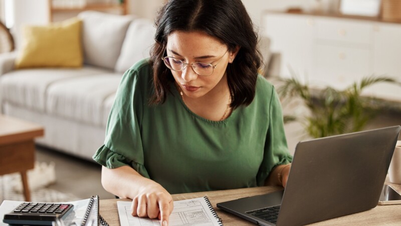
<svg viewBox="0 0 401 226"><path fill-rule="evenodd" d="M168 225L168 218L173 209L171 195L158 183L149 181L139 189L132 199L132 215L139 217L158 217L162 226Z"/></svg>

